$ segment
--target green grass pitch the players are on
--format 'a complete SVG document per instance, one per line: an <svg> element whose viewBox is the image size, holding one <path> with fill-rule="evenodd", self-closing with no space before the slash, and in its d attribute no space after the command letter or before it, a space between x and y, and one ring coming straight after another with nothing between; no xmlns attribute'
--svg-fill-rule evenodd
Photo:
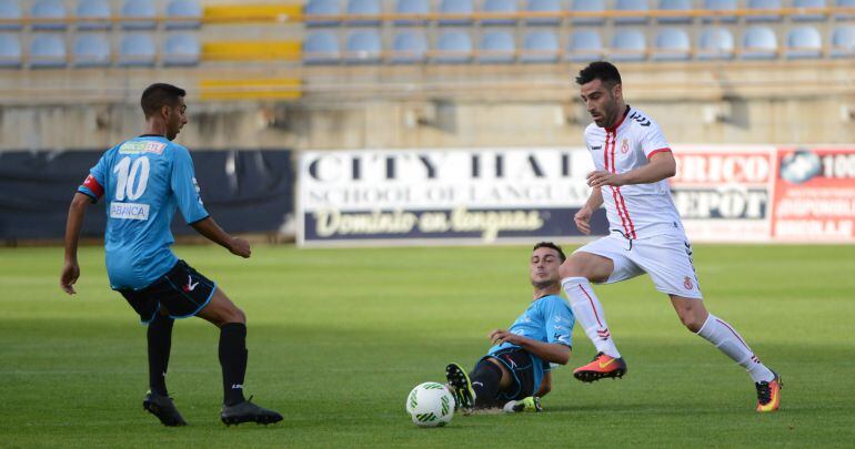
<svg viewBox="0 0 855 449"><path fill-rule="evenodd" d="M219 422L218 331L177 324L169 385L190 422L141 407L144 327L109 289L99 247L81 249L79 294L58 287L60 248L0 249L0 447L848 446L855 441L855 246L703 246L695 263L714 314L784 378L778 414L754 411L751 379L678 323L647 277L597 294L628 363L583 385L581 329L540 415L456 416L419 429L410 389L471 366L486 334L531 299L529 248L313 249L258 246L243 261L178 247L249 317L247 390L276 426Z"/></svg>

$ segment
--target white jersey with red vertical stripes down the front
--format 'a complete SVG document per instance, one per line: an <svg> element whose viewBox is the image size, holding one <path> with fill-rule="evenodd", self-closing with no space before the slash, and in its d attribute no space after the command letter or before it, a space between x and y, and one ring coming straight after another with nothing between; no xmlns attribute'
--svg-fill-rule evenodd
<svg viewBox="0 0 855 449"><path fill-rule="evenodd" d="M614 127L590 124L585 129L585 145L596 170L618 174L647 165L655 153L671 151L660 125L630 106ZM683 232L667 181L600 188L610 231L633 239L675 229Z"/></svg>

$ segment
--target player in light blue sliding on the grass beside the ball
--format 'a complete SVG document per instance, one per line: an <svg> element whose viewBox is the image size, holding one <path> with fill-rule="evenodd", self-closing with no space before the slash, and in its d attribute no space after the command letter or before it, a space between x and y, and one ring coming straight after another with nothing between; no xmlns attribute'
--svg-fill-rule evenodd
<svg viewBox="0 0 855 449"><path fill-rule="evenodd" d="M540 398L552 388L551 364L570 359L575 318L561 297L559 267L564 252L551 242L534 245L529 262L533 300L507 330L495 329L487 355L469 375L457 364L445 368L457 408L504 406L505 411L540 411Z"/></svg>

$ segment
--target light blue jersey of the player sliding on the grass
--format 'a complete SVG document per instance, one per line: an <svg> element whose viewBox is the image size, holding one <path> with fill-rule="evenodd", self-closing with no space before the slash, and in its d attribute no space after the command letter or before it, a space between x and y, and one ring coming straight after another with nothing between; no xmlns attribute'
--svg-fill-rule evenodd
<svg viewBox="0 0 855 449"><path fill-rule="evenodd" d="M573 334L575 322L576 318L573 316L567 302L559 295L550 295L533 300L507 330L534 340L572 346L571 335ZM487 355L492 356L502 349L519 347L517 345L503 343L490 348ZM532 356L534 368L534 391L537 391L541 387L543 375L550 370L550 364L534 354L529 354Z"/></svg>

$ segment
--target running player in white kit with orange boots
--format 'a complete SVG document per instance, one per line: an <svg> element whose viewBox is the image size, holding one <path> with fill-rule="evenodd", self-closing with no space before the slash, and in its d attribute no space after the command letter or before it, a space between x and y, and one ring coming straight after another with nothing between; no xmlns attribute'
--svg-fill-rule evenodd
<svg viewBox="0 0 855 449"><path fill-rule="evenodd" d="M585 145L595 171L587 176L591 196L574 221L589 234L591 215L605 205L611 234L576 249L561 266L573 314L598 351L573 375L590 382L626 373L591 283L612 284L646 273L656 289L671 297L688 330L748 371L757 390L757 411L776 410L781 378L760 361L733 326L704 307L692 246L665 181L674 176L676 162L658 124L624 102L621 74L611 63L589 64L576 83L594 119L585 129Z"/></svg>

